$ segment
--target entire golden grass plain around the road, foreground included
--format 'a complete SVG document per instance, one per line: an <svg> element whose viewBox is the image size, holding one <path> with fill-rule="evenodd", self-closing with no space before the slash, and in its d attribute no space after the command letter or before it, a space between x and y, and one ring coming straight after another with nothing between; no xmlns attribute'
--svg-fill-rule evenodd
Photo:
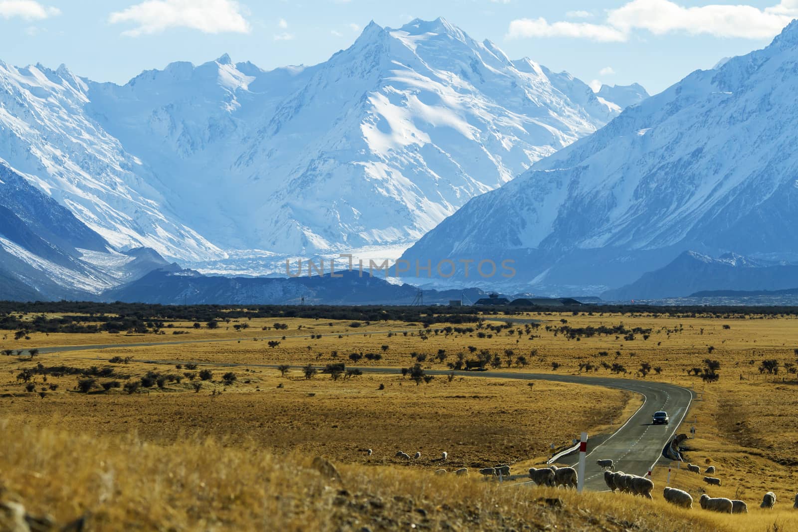
<svg viewBox="0 0 798 532"><path fill-rule="evenodd" d="M69 506L65 502L69 499L63 499L66 491L60 492L61 499L55 491L68 490L75 485L70 475L77 475L77 479L90 477L96 483L103 473L97 464L85 465L87 471L77 474L64 470L64 464L57 469L46 459L38 461L36 467L8 467L0 462L0 483L22 496L36 511L56 514L60 522L85 510L93 510L103 516L94 521L98 526L126 522L142 529L151 529L153 523L164 530L168 528L164 523L173 523L177 530L210 529L217 525L223 529L263 528L259 524L266 523L263 519L268 510L275 521L269 522L267 528L274 530L291 530L292 527L296 530L338 530L337 526L342 526L343 530L358 530L369 522L372 530L393 530L400 524L406 527L407 519L421 518L421 513L413 513L414 509L405 512L408 506L405 502L393 499L394 495L410 495L413 506L420 506L427 512L427 524L433 530L446 529L444 522L452 524L456 530L500 530L500 518L491 510L494 507L508 516L501 526L519 530L523 522L533 528L535 523L543 523L566 530L798 530L798 510L792 510L792 499L798 489L795 472L798 465L795 416L798 382L796 374L790 371L796 365L795 349L798 348L796 318L535 313L523 318L538 320L536 328L533 325L527 328L519 322L521 317L508 317L515 321L512 334L508 329L499 332L495 327L488 329L503 323L504 318L485 318L481 328L477 328L477 324L451 325L472 327L474 330L470 333L448 333L447 324L430 325L429 330L425 330L418 324L364 322L353 328L351 321L270 318L247 321L249 328L241 331L236 331L234 325L243 324L243 320L222 322L214 330L204 326L194 329L191 322L178 322L172 324L172 329L164 329L165 335L51 333L47 336L33 333L30 340L18 341L10 336L0 341L0 349L223 341L40 354L33 361L16 355L0 357L0 420L6 422L6 435L26 427L24 434L28 439L20 443L20 453L26 446L36 448L31 440L41 440L41 444L45 444L53 439L63 445L70 438L78 443L81 438L91 438L108 453L105 463L115 463L114 471L125 472L124 478L129 480L123 483L130 486L119 488L118 495L109 495L107 500L113 502L100 504L91 499L98 493L94 489L93 495L89 495L92 491L85 494L88 499L69 503ZM288 327L274 329L275 322ZM567 330L561 329L617 325L651 330L645 333L647 339L643 333L626 339L623 333L582 334L569 338ZM174 330L185 334L172 335L170 331ZM279 341L279 345L270 347L268 341ZM587 373L599 376L646 378L692 386L700 393L701 400L693 403L685 424L679 428L679 432L689 433L692 424L688 421L697 420L697 437L684 443L688 449L685 458L700 464L702 471L710 463L716 466L717 473L713 476L721 478L721 487L705 485L701 480L703 474L672 471L670 485L693 494L696 500L693 510L678 510L662 501L666 467L658 467L654 472L657 486L654 502L617 494L577 498L563 491L529 490L527 487L498 489L492 483L475 479L463 481L462 486L457 485L456 490L452 490L452 483L461 479L439 478L431 473L439 467L433 459L440 451L448 451L449 468L492 465L492 462L516 462L519 467L539 463L550 443L569 443L583 428L588 428L591 435L609 430L606 419L610 416L618 416L617 427L639 403L634 397L630 400L621 392L604 388L545 381L535 381L530 388L523 381L463 379L460 376L449 381L446 376L436 376L429 384L421 382L417 386L398 372L342 376L336 381L319 374L306 380L298 369L281 377L275 368L267 367L308 363L323 367L333 362L346 362L348 366L364 368L402 368L421 358L424 368L446 370L458 360L458 353L463 353L464 359L472 359L484 349L488 349L492 357L499 355L502 371L579 373L582 365L581 372L585 373L584 365L590 364L598 371L591 369ZM508 350L512 353L507 353ZM349 358L350 353L375 353L380 359L369 361L364 357L354 362ZM114 356L133 358L128 364L110 365L108 361ZM525 357L525 364L518 364L519 356ZM705 383L701 376L692 374L692 368L704 371L705 359L720 363L717 382ZM768 360L778 361L777 374L767 371L760 374L760 365ZM149 393L132 395L116 388L109 392L97 388L88 395L82 394L73 391L76 376L48 376L45 383L41 375L34 376L34 392L29 393L25 391L26 383L16 378L22 369L37 364L78 368L110 365L115 372L127 374L131 380L140 379L148 371L180 376L186 372L185 368L175 368L175 363L187 362L199 364L192 372L208 368L214 373L210 382L203 382L199 392L195 393L192 386L197 381L196 376L195 380L183 377L180 383L167 382L164 389L154 385ZM559 367L553 369L553 363ZM604 365L621 365L626 372L616 374ZM643 377L639 370L646 365L650 366L650 371ZM491 365L488 367L496 371ZM228 371L235 372L237 380L226 387L220 379ZM741 380L741 376L745 380ZM98 378L97 383L105 380L125 382L114 376ZM49 384L58 384L58 388L49 390ZM278 388L279 384L282 388ZM380 384L385 388L378 389ZM48 388L44 398L38 395L41 388ZM580 400L572 401L577 395ZM583 408L577 406L579 404L588 406ZM619 413L622 408L626 408L626 414ZM563 419L567 422L562 423ZM57 429L51 431L49 425ZM78 431L85 434L70 435ZM210 438L207 446L211 451L203 456L190 455L191 449L198 448L203 438ZM114 447L148 451L124 451L112 456ZM370 457L361 451L367 447L374 451ZM421 451L422 459L408 467L393 459L393 453L399 449L410 454ZM47 452L42 451L42 455L47 456ZM289 455L284 455L285 452ZM0 454L0 460L14 463L10 461L12 451L4 453ZM124 463L126 455L136 455L136 460ZM325 489L323 479L312 472L307 475L307 482L290 488L294 491L275 489L279 485L276 480L269 487L263 484L257 489L240 486L246 483L247 475L255 474L251 467L240 465L247 456L251 456L263 471L268 471L263 475L275 479L282 479L284 475L287 482L291 475L281 469L283 463L289 463L290 466L286 466L289 469L306 469L315 455L324 455L338 464L348 495L337 495L342 489L337 485ZM157 456L162 458L156 459ZM167 471L164 475L168 475L168 471L196 471L200 460L207 460L200 469L212 471L213 482L219 483L215 498L208 502L210 506L201 508L196 501L188 500L191 489L196 489L196 483L192 483L195 481L189 482L176 474L175 479L154 475L152 469L163 467ZM214 460L218 465L214 465ZM56 469L51 469L53 467ZM83 466L77 463L74 467ZM225 472L224 467L247 471L242 476L232 475ZM140 472L136 472L138 470ZM26 471L44 475L49 479L49 487L35 491L34 487L41 489L39 481L26 481L36 478ZM293 477L292 482L296 483L295 475ZM26 482L33 483L27 486ZM150 499L150 492L128 500L132 491L124 490L150 482L159 483L156 492L167 502L156 503L154 495ZM712 496L744 499L750 514L729 517L709 514L697 507L702 490ZM174 495L164 495L172 491ZM759 509L765 491L776 491L776 510ZM37 493L47 495L38 497ZM313 493L313 501L300 500L300 493ZM223 497L231 502L219 506L219 494L224 494ZM282 498L277 505L279 509L274 508L276 503L271 500L275 494ZM560 499L562 509L539 500L552 496ZM236 499L238 497L243 499ZM369 505L369 497L379 497L385 503L377 511L377 517L371 514L373 506ZM258 502L243 508L240 502L244 500ZM137 510L137 506L131 506L134 502L149 504L153 514ZM476 518L475 512L468 511L475 502L479 508ZM252 510L254 507L258 510ZM264 511L260 511L261 508ZM347 513L354 513L356 517L346 522ZM290 521L294 518L297 520ZM383 518L387 520L380 521ZM303 527L302 522L312 526Z"/></svg>

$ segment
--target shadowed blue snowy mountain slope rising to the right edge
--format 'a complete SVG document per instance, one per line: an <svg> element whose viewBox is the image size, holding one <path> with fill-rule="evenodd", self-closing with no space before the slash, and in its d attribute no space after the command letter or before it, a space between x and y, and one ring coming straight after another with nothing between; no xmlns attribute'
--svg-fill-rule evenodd
<svg viewBox="0 0 798 532"><path fill-rule="evenodd" d="M626 285L685 250L795 261L798 22L472 199L405 259L513 258L527 290Z"/></svg>

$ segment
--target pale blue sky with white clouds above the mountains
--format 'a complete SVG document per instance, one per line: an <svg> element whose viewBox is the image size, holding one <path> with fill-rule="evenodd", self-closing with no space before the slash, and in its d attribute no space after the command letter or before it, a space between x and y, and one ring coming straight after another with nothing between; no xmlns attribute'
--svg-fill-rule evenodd
<svg viewBox="0 0 798 532"><path fill-rule="evenodd" d="M398 27L439 16L513 59L657 93L767 45L798 18L798 0L0 0L0 60L65 63L117 83L222 53L263 69L312 65L349 46L370 20Z"/></svg>

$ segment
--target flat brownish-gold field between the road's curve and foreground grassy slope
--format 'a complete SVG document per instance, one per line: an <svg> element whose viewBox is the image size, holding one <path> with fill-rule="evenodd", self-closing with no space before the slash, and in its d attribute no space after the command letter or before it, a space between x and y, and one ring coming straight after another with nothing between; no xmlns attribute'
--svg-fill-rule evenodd
<svg viewBox="0 0 798 532"><path fill-rule="evenodd" d="M41 356L42 365L48 364L47 357ZM76 366L81 362L59 360ZM130 376L150 368L184 373L184 368L136 363L104 367ZM547 381L530 386L516 380L438 377L417 385L398 372L338 380L319 374L307 380L298 369L282 377L275 369L236 368L237 380L225 385L226 369L213 368L211 380L184 378L134 394L122 388L105 392L99 386L88 394L78 393L73 390L76 376L52 375L47 382L34 376L36 392L20 393L14 381L18 371L2 372L2 417L14 424L135 433L156 443L212 436L228 444L252 443L356 463L437 467L441 452L447 451L447 466L484 467L544 459L551 443L571 443L573 426L609 431L610 420L617 428L625 409L637 408L640 402L636 396L630 400L628 392ZM117 379L97 382L112 380ZM58 388L51 391L51 384ZM199 392L194 384L202 385ZM43 398L38 395L41 390ZM581 398L579 404L574 404L574 396ZM373 455L365 454L368 448ZM421 451L422 458L403 463L393 458L397 451Z"/></svg>

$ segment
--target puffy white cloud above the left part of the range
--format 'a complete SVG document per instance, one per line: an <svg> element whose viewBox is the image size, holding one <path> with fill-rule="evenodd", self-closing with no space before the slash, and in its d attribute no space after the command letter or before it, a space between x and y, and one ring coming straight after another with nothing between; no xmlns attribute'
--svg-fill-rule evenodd
<svg viewBox="0 0 798 532"><path fill-rule="evenodd" d="M249 33L242 11L235 0L145 0L110 14L109 22L135 23L135 28L122 32L132 37L177 27L203 33Z"/></svg>

